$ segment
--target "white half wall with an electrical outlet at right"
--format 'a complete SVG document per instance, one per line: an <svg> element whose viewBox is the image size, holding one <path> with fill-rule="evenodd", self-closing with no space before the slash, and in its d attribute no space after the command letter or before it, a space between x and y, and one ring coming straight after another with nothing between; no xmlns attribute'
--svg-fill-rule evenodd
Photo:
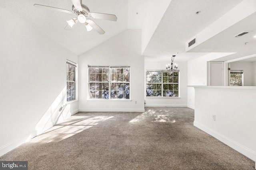
<svg viewBox="0 0 256 170"><path fill-rule="evenodd" d="M256 87L199 86L195 90L194 125L256 161Z"/></svg>

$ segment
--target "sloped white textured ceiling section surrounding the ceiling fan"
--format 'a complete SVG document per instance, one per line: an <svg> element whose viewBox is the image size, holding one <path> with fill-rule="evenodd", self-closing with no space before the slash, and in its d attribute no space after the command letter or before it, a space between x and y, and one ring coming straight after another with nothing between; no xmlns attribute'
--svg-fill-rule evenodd
<svg viewBox="0 0 256 170"><path fill-rule="evenodd" d="M95 30L86 31L83 24L77 23L72 30L64 27L66 20L75 18L75 14L66 14L47 9L36 8L34 4L53 6L72 11L71 0L0 0L0 6L26 21L42 33L66 47L76 55L110 39L127 29L128 1L127 0L82 0L90 12L115 14L116 22L93 19L106 33L98 34Z"/></svg>

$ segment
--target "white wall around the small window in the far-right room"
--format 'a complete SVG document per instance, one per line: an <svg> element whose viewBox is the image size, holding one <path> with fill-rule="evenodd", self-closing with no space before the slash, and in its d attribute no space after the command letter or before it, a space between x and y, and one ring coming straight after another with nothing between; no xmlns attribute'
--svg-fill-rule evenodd
<svg viewBox="0 0 256 170"><path fill-rule="evenodd" d="M254 62L232 62L230 63L230 70L244 70L244 86L254 86L256 81Z"/></svg>

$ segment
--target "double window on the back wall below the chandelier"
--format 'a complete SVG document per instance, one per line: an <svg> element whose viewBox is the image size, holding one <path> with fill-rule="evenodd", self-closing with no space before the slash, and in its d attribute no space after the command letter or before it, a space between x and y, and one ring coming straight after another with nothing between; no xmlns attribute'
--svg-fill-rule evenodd
<svg viewBox="0 0 256 170"><path fill-rule="evenodd" d="M179 72L147 71L147 97L179 97Z"/></svg>

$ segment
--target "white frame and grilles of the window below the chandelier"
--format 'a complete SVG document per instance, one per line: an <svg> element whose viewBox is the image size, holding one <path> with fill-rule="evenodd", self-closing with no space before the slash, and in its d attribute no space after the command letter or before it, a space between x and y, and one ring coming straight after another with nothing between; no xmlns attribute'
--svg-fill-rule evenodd
<svg viewBox="0 0 256 170"><path fill-rule="evenodd" d="M147 74L145 76L146 78L146 83L145 83L145 90L147 90L147 84L161 84L161 96L147 96L146 92L146 98L180 98L180 70L175 70L175 71L166 71L166 70L146 70L147 72L161 72L161 82L159 83L152 83L152 82L147 82ZM164 83L164 73L165 72L178 72L178 83ZM164 96L164 84L178 84L178 96Z"/></svg>

